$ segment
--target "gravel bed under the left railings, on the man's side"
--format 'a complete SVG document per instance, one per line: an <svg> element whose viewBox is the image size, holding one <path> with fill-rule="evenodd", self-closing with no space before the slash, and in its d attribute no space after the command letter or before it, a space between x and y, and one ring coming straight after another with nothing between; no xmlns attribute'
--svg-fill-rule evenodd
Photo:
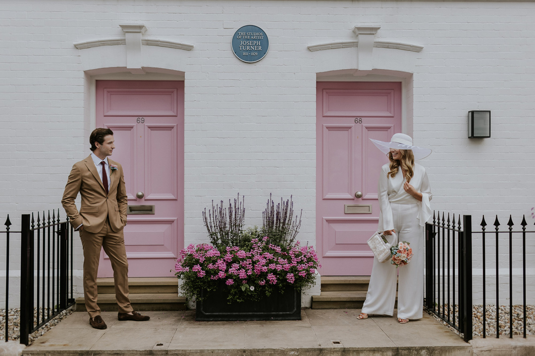
<svg viewBox="0 0 535 356"><path fill-rule="evenodd" d="M45 308L45 315L48 310ZM32 344L35 339L46 333L48 330L58 325L60 321L65 319L68 315L71 315L74 312L74 308L69 308L59 313L56 318L45 323L39 330L35 331L33 334L30 334L28 337L29 344ZM43 309L40 308L39 313L42 317ZM20 309L12 308L9 310L8 318L8 338L10 340L18 340L20 338L19 329L20 329ZM34 309L34 323L37 321L37 310ZM5 309L0 310L0 341L5 341Z"/></svg>

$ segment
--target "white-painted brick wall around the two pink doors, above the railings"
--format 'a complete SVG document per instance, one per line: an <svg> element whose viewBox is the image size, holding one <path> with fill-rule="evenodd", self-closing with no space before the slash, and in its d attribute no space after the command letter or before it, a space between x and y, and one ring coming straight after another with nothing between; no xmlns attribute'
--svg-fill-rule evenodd
<svg viewBox="0 0 535 356"><path fill-rule="evenodd" d="M123 37L125 22L146 25L146 37L195 45L191 52L143 46L147 67L185 73L186 244L207 240L201 211L211 200L238 192L246 196L251 225L261 224L269 193L293 194L295 208L303 209L299 237L315 243L318 58L325 70L356 69L357 49L312 53L307 45L354 40L353 27L370 23L381 26L378 39L424 46L416 54L374 53L379 69L414 72L404 86L404 126L416 145L433 148L422 161L433 208L475 217L529 215L534 14L533 2L506 1L5 0L0 219L10 213L17 224L21 213L60 208L68 172L88 154L94 128L90 75L83 70L126 62L124 46L77 50L73 43ZM249 23L270 38L268 55L256 64L238 61L230 48L234 31ZM467 138L467 113L477 109L492 110L491 138Z"/></svg>

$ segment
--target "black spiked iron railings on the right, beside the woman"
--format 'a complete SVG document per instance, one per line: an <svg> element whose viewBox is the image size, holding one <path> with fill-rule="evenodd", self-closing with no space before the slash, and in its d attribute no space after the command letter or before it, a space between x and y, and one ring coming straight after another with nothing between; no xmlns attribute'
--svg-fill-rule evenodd
<svg viewBox="0 0 535 356"><path fill-rule="evenodd" d="M473 312L476 310L473 305L473 290L478 291L478 300L482 300L476 314L477 322L483 324L480 328L483 337L487 336L487 317L490 310L495 312L496 337L500 337L500 330L509 334L510 338L519 334L518 328L513 328L515 318L516 321L518 318L522 319L522 333L526 337L526 235L532 234L533 238L535 231L526 230L528 223L525 217L518 224L521 227L516 230L511 216L507 223L508 228L500 229L498 216L493 225L494 231L487 232L487 223L483 217L480 228L472 231L471 215L464 215L462 218L452 215L450 218L449 213L445 215L442 212L442 216L435 213L433 222L425 226L424 305L427 310L463 334L465 341L473 337ZM476 263L473 260L473 248L478 249L477 252L481 249L482 252L482 259L476 261L476 269L472 268ZM522 267L514 268L514 260L516 265L522 264ZM475 270L481 273L474 275ZM514 293L513 290L514 270L516 276L521 279L515 284L517 290L522 289L521 293ZM507 275L508 281L500 281L500 274ZM476 276L477 281L474 281ZM508 293L502 299L508 299L508 306L500 305L500 286L503 284L507 284ZM495 299L487 296L489 286L495 289ZM519 294L522 297L519 297ZM514 301L522 302L517 302L522 309L522 312L518 313L519 317L513 315L516 307ZM503 312L508 312L508 315ZM500 328L500 324L508 325L508 330Z"/></svg>

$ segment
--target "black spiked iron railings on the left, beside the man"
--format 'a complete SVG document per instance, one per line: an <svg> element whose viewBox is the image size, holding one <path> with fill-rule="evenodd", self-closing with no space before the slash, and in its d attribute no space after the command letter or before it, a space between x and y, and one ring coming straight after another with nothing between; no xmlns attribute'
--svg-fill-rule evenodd
<svg viewBox="0 0 535 356"><path fill-rule="evenodd" d="M21 216L20 231L11 231L7 216L5 341L9 339L10 240L20 236L20 343L28 345L29 335L74 304L73 228L60 221L59 210L45 217L37 213Z"/></svg>

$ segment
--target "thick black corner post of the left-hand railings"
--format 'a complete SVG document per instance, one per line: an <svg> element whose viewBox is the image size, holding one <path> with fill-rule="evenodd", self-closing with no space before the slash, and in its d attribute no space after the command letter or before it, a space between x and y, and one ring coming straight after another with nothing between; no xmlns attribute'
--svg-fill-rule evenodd
<svg viewBox="0 0 535 356"><path fill-rule="evenodd" d="M33 329L33 234L30 215L21 217L20 242L20 343L28 345Z"/></svg>

